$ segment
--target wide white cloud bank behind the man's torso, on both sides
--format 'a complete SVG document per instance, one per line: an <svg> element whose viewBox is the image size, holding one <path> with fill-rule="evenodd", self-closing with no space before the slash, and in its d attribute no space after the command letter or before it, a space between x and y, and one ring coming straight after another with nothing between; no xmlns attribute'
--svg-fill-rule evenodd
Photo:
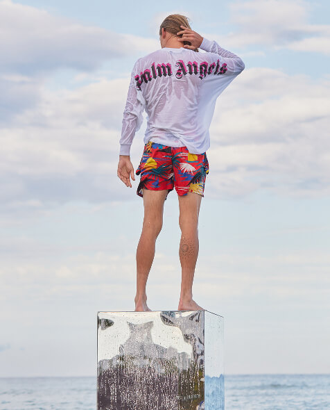
<svg viewBox="0 0 330 410"><path fill-rule="evenodd" d="M128 81L43 89L40 104L1 132L0 172L7 181L2 202L11 207L127 198L116 165ZM329 194L329 95L324 79L246 69L217 101L207 195L234 197L260 189L288 196ZM142 144L137 135L135 169Z"/></svg>

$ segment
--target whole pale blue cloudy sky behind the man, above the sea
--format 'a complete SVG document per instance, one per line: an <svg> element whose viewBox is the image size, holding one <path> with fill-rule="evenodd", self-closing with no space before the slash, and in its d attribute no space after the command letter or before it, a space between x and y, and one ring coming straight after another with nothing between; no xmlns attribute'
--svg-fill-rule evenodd
<svg viewBox="0 0 330 410"><path fill-rule="evenodd" d="M245 63L210 127L193 285L224 317L225 374L329 372L329 4L0 0L0 377L96 375L97 312L134 310L144 210L116 175L121 120L173 13ZM179 243L172 191L154 311L177 309Z"/></svg>

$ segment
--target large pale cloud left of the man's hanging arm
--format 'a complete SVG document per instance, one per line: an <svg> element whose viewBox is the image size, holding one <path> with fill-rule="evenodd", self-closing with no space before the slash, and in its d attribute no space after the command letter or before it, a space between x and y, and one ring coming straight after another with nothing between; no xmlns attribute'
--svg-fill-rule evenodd
<svg viewBox="0 0 330 410"><path fill-rule="evenodd" d="M126 79L99 79L76 90L42 88L36 106L3 126L3 222L8 213L31 218L71 201L99 204L129 196L116 176L127 74Z"/></svg>

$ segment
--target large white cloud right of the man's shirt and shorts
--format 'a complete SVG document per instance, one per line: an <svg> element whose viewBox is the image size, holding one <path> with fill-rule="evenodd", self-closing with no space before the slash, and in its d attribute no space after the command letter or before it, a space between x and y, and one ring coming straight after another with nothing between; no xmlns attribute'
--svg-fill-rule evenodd
<svg viewBox="0 0 330 410"><path fill-rule="evenodd" d="M242 196L260 189L293 197L328 195L329 95L325 79L246 70L217 101L209 195Z"/></svg>

